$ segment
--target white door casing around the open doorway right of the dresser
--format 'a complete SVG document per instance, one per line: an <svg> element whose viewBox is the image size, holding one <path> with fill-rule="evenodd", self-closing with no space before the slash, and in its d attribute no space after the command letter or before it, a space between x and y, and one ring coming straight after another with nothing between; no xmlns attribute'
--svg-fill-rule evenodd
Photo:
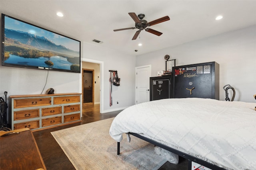
<svg viewBox="0 0 256 170"><path fill-rule="evenodd" d="M104 72L103 72L104 62L98 61L98 60L92 60L92 59L84 59L84 58L82 58L82 61L100 64L100 113L103 113L103 110L104 110ZM82 74L81 74L80 87L82 89Z"/></svg>

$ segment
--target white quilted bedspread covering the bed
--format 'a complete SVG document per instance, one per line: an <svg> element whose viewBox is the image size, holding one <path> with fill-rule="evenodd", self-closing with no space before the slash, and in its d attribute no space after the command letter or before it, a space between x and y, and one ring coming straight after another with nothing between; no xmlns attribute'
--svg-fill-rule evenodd
<svg viewBox="0 0 256 170"><path fill-rule="evenodd" d="M119 113L113 139L138 133L228 170L256 169L256 103L213 99L164 99Z"/></svg>

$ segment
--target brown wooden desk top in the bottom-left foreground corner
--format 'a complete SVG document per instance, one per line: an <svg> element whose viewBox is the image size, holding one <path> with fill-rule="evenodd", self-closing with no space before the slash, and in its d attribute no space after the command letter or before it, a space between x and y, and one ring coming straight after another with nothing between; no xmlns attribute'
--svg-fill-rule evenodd
<svg viewBox="0 0 256 170"><path fill-rule="evenodd" d="M24 128L0 135L10 132L20 133L0 137L0 169L46 170L32 132Z"/></svg>

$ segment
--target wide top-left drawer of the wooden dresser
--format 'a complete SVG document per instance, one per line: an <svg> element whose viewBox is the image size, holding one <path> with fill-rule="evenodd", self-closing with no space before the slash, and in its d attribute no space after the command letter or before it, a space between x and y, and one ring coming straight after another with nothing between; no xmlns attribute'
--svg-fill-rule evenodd
<svg viewBox="0 0 256 170"><path fill-rule="evenodd" d="M51 105L51 102L51 98L15 99L14 109L22 107L46 106Z"/></svg>

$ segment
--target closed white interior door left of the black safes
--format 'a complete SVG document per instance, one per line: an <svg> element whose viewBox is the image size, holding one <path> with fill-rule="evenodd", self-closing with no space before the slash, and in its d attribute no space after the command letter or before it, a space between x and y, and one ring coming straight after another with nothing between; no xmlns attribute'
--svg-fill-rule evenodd
<svg viewBox="0 0 256 170"><path fill-rule="evenodd" d="M136 84L136 104L143 102L149 102L150 92L149 92L149 78L151 76L151 65L139 66L135 68L135 84Z"/></svg>

